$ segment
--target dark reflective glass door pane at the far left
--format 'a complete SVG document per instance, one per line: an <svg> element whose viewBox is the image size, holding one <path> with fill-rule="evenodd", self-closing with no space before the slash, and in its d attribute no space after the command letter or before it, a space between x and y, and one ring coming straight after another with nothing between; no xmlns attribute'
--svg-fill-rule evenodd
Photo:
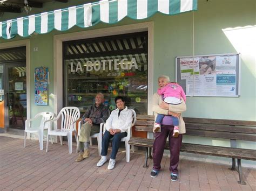
<svg viewBox="0 0 256 191"><path fill-rule="evenodd" d="M25 129L26 121L26 65L5 65L5 128Z"/></svg>

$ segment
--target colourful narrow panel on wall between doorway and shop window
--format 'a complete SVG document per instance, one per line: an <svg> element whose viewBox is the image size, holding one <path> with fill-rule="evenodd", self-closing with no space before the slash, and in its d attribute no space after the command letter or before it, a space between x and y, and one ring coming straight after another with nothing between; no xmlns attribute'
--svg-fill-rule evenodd
<svg viewBox="0 0 256 191"><path fill-rule="evenodd" d="M35 104L48 105L48 68L35 68Z"/></svg>

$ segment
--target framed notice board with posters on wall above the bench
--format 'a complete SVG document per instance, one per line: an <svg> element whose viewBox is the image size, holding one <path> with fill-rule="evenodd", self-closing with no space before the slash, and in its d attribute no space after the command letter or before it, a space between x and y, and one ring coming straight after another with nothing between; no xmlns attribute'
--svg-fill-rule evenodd
<svg viewBox="0 0 256 191"><path fill-rule="evenodd" d="M186 96L238 97L241 55L212 54L176 57L176 82Z"/></svg>

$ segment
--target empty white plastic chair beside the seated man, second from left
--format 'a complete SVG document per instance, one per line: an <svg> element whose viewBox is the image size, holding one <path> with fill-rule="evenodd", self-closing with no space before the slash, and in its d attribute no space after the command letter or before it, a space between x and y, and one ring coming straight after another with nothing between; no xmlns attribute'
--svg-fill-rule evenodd
<svg viewBox="0 0 256 191"><path fill-rule="evenodd" d="M72 133L75 131L75 138L77 141L77 132L76 132L76 122L80 118L80 111L77 107L65 107L59 111L59 114L56 118L51 120L51 124L61 117L60 129L55 127L54 130L51 128L48 129L47 142L46 142L46 152L48 152L49 145L49 136L59 136L60 144L62 144L62 137L68 137L69 144L69 153L72 153ZM51 125L52 126L52 125Z"/></svg>

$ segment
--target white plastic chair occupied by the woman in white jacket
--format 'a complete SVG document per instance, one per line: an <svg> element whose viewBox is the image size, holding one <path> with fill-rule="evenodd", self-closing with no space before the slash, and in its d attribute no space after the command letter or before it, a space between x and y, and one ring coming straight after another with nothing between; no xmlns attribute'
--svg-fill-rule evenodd
<svg viewBox="0 0 256 191"><path fill-rule="evenodd" d="M130 128L127 129L127 136L121 139L121 142L125 142L125 152L126 152L126 162L130 162L130 145L128 144L130 138L132 137L132 127L135 125L136 122L136 112L133 109L130 109L132 111L132 124ZM106 125L104 123L104 128L103 128L103 135L106 131ZM100 145L100 151L102 150L102 145ZM132 151L134 152L134 147L132 145Z"/></svg>

